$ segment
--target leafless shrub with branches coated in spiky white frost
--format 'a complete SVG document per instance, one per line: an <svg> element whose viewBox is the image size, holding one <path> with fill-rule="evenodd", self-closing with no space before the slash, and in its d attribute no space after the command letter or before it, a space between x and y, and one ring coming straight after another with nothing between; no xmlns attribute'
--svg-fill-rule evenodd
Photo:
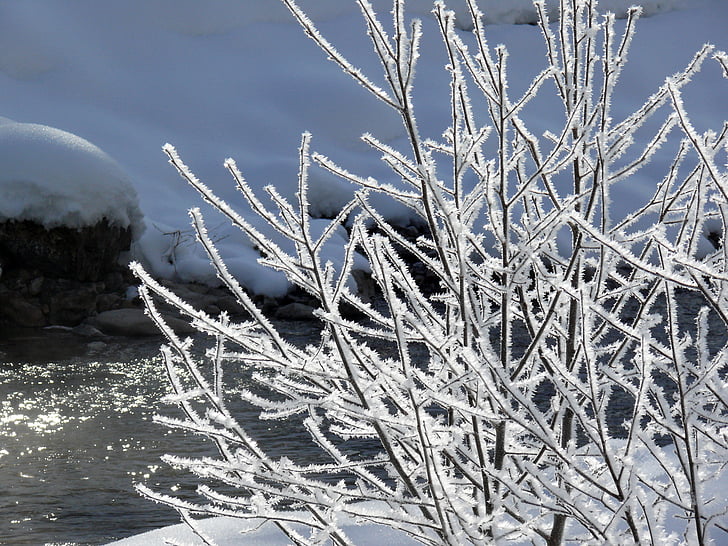
<svg viewBox="0 0 728 546"><path fill-rule="evenodd" d="M421 29L405 21L403 1L394 2L390 33L358 0L386 87L283 1L330 59L401 116L408 148L363 137L401 184L311 153L306 134L296 200L268 188L266 204L228 160L284 247L166 148L262 260L318 300L322 331L307 347L287 341L228 274L193 209L200 242L249 318L209 317L135 267L169 339L162 352L171 400L184 413L159 420L207 436L219 450L214 458L166 458L200 477L197 502L139 489L192 526L196 515L263 518L300 544L349 543L351 524L386 525L425 544L726 539L726 493L710 486L728 463L728 247L699 249L706 226L724 233L728 220L728 125L697 133L681 90L711 55L723 69L728 56L704 47L639 110L614 119L611 99L639 9L618 35L614 17L599 16L592 0L563 0L555 26L536 2L548 68L514 97L507 52L488 45L475 1L467 37L438 2L452 119L433 140L418 131L411 100ZM554 90L563 126L536 135L521 113ZM653 138L635 138L649 127ZM670 133L681 136L652 197L632 214L611 215L613 188L629 184ZM312 162L360 188L323 231L311 229L308 214ZM414 242L401 236L370 206L378 192L407 206L427 232ZM349 240L335 267L320 250L344 224ZM357 252L368 259L379 302L351 289ZM437 278L436 293L418 286L404 253ZM154 294L210 336L203 356L164 324ZM352 308L363 318L351 319ZM251 370L264 394L233 388L230 367ZM325 460L272 456L230 409L241 398L264 419L300 416ZM352 439L377 448L352 451Z"/></svg>

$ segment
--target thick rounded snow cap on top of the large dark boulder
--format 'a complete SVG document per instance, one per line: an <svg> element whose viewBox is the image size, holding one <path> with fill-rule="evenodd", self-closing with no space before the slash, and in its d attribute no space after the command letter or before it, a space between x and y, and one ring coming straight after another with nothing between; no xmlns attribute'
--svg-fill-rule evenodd
<svg viewBox="0 0 728 546"><path fill-rule="evenodd" d="M83 138L0 118L0 220L78 228L106 218L144 230L136 190L121 167Z"/></svg>

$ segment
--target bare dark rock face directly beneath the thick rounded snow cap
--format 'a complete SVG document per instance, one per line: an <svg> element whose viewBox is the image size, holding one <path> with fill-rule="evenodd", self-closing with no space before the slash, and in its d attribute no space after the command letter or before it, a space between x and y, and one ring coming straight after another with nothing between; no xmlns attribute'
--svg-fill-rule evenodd
<svg viewBox="0 0 728 546"><path fill-rule="evenodd" d="M79 229L46 229L27 220L0 223L3 268L37 269L44 275L102 280L118 270L119 255L131 245L131 229L102 220Z"/></svg>

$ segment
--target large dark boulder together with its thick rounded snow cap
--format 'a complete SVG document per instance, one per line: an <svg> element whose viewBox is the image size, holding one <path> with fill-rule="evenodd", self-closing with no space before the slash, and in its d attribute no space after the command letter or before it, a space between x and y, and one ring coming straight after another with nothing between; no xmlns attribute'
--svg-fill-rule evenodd
<svg viewBox="0 0 728 546"><path fill-rule="evenodd" d="M0 166L6 270L100 280L144 229L124 171L81 137L0 118Z"/></svg>

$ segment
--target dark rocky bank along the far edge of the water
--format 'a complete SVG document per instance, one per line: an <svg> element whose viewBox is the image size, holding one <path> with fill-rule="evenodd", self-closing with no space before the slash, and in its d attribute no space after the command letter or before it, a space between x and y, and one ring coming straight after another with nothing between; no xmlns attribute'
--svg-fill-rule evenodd
<svg viewBox="0 0 728 546"><path fill-rule="evenodd" d="M414 240L421 231L410 226L402 234ZM138 284L127 266L130 230L102 221L73 229L46 229L29 221L0 223L0 328L61 327L84 336L159 335L136 297ZM415 279L436 284L423 264L405 255ZM355 271L359 293L376 297L372 279ZM170 280L160 281L183 300L212 316L222 311L244 313L225 289ZM311 320L316 301L300 290L281 298L255 296L263 312L280 320ZM168 323L180 334L191 326L169 305L160 302Z"/></svg>

